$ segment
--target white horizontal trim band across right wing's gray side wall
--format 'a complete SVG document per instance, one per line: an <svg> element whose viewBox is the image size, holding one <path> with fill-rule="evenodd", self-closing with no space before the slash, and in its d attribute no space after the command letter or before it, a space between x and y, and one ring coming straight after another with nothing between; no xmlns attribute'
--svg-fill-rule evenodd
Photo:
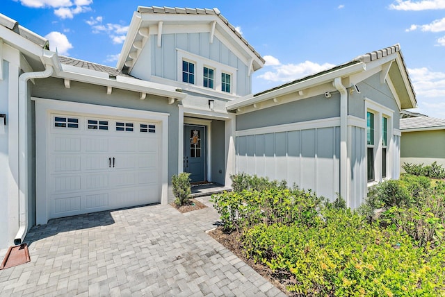
<svg viewBox="0 0 445 297"><path fill-rule="evenodd" d="M238 137L247 135L280 133L287 131L328 128L328 127L338 127L338 126L340 126L340 117L332 117L330 119L316 119L314 121L300 121L298 123L252 128L247 130L238 130L236 131L235 135L236 137Z"/></svg>

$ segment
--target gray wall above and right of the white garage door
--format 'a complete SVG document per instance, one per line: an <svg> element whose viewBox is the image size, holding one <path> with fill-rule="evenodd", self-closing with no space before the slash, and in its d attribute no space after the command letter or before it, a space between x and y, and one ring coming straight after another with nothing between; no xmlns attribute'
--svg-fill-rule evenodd
<svg viewBox="0 0 445 297"><path fill-rule="evenodd" d="M72 81L71 88L66 89L63 80L58 78L44 78L35 80L32 96L45 99L56 99L71 102L107 105L118 108L131 108L135 110L149 110L166 112L168 117L168 178L177 174L178 169L178 117L177 103L168 105L167 99L158 96L149 96L149 99L140 100L137 92L113 89L111 95L106 94L106 87L90 85ZM32 122L35 119L31 119Z"/></svg>

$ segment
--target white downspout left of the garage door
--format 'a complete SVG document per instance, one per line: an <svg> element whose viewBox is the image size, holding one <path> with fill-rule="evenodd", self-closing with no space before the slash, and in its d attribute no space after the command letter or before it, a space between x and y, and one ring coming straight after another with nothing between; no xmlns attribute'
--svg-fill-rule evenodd
<svg viewBox="0 0 445 297"><path fill-rule="evenodd" d="M28 232L28 80L47 78L53 74L53 67L45 64L44 71L26 72L19 76L19 231L14 244L22 244Z"/></svg>

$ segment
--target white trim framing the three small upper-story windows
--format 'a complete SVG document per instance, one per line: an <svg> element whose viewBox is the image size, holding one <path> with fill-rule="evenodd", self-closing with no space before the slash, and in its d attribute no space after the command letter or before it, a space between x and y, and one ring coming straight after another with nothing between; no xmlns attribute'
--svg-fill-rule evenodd
<svg viewBox="0 0 445 297"><path fill-rule="evenodd" d="M188 51L184 51L182 49L176 49L177 51L177 80L179 83L184 83L182 81L182 61L186 60L187 62L192 62L195 65L195 83L186 83L186 85L194 85L195 87L202 87L204 89L213 90L216 92L222 92L226 94L238 94L238 90L236 90L236 74L238 69L231 67L229 65L225 65L220 62L216 62L207 58L203 58L202 56L197 56L194 53L190 53ZM204 87L203 85L203 69L204 67L208 67L213 69L213 89L209 87ZM231 92L223 92L222 87L222 79L221 75L229 74L230 75L230 91Z"/></svg>

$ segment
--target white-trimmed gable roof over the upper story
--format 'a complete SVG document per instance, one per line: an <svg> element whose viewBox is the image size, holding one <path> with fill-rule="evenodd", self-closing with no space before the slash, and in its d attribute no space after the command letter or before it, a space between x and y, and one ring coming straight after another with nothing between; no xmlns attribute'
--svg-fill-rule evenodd
<svg viewBox="0 0 445 297"><path fill-rule="evenodd" d="M180 28L189 24L197 25L197 28L200 28L200 30L204 28L203 26L207 26L207 28L204 28L204 31L211 34L215 31L222 33L225 38L233 40L230 44L234 46L234 49L242 53L246 61L250 60L252 69L257 70L263 67L265 63L264 58L221 15L218 8L171 8L158 6L138 6L138 10L133 13L116 67L120 71L131 71L134 61L138 59L139 49L148 40L149 35L158 35L159 32L162 35L166 26L172 25L172 28L175 28L175 26ZM156 31L152 32L152 28ZM133 48L136 47L135 44L139 44L138 50Z"/></svg>

